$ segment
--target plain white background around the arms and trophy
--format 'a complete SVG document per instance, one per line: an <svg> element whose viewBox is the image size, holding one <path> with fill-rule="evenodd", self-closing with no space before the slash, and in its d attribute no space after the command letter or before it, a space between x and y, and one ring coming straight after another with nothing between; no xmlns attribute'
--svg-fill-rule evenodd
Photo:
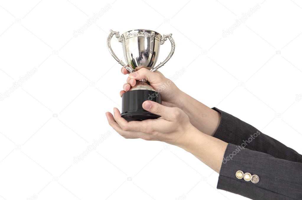
<svg viewBox="0 0 302 200"><path fill-rule="evenodd" d="M185 67L175 79L183 91L302 152L297 0L0 1L0 19L0 93L37 69L0 102L0 199L244 199L217 190L218 174L188 152L126 140L108 125L105 112L120 109L127 78L108 52L110 29L172 33L176 49L164 75ZM112 45L122 57L116 38ZM170 48L162 45L158 63Z"/></svg>

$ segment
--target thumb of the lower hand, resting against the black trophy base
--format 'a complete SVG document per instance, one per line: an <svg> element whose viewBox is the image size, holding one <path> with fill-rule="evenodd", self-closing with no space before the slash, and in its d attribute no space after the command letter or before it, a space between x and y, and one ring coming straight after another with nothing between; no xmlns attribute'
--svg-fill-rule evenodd
<svg viewBox="0 0 302 200"><path fill-rule="evenodd" d="M163 106L162 104L156 103L154 101L144 101L143 109L156 115L160 115L167 120L169 120L169 113L171 113L170 107Z"/></svg>

